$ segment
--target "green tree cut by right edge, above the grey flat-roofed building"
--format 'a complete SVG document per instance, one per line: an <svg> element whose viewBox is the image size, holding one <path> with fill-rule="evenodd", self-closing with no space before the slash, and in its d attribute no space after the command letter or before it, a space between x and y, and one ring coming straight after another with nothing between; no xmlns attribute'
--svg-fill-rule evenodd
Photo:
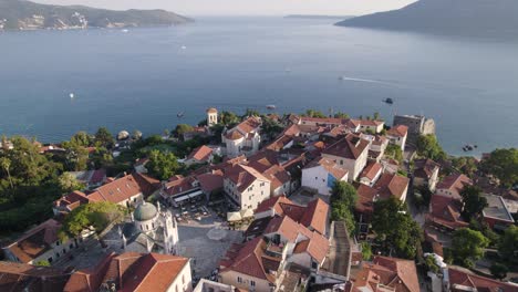
<svg viewBox="0 0 518 292"><path fill-rule="evenodd" d="M518 184L518 149L496 149L483 160L481 168L495 175L505 187Z"/></svg>

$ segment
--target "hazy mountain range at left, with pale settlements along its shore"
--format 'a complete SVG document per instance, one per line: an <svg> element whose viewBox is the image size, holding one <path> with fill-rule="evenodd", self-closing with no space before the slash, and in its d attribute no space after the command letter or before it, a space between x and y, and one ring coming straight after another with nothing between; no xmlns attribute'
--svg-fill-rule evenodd
<svg viewBox="0 0 518 292"><path fill-rule="evenodd" d="M48 6L0 0L0 30L135 28L191 21L165 10L113 11L83 6Z"/></svg>

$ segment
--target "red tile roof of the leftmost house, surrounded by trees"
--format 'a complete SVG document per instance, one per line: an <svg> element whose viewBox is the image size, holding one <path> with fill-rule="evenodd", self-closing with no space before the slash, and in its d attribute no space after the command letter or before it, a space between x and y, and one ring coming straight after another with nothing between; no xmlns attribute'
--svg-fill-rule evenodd
<svg viewBox="0 0 518 292"><path fill-rule="evenodd" d="M29 263L52 249L51 244L58 241L58 231L60 228L60 222L54 219L49 219L23 233L17 241L9 244L7 249L9 249L20 262Z"/></svg>

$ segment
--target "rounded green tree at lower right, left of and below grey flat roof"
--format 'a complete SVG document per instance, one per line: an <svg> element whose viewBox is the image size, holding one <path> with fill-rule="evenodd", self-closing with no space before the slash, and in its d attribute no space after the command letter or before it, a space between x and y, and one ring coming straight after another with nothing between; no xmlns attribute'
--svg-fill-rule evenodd
<svg viewBox="0 0 518 292"><path fill-rule="evenodd" d="M488 246L489 240L481 232L469 228L458 229L452 238L454 260L466 268L472 268Z"/></svg>

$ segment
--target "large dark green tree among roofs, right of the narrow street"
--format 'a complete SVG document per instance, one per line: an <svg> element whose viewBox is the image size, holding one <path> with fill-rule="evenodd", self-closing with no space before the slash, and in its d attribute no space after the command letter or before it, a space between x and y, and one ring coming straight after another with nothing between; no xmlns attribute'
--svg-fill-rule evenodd
<svg viewBox="0 0 518 292"><path fill-rule="evenodd" d="M372 229L376 240L390 253L413 259L421 246L423 232L412 219L407 206L395 197L374 202Z"/></svg>

